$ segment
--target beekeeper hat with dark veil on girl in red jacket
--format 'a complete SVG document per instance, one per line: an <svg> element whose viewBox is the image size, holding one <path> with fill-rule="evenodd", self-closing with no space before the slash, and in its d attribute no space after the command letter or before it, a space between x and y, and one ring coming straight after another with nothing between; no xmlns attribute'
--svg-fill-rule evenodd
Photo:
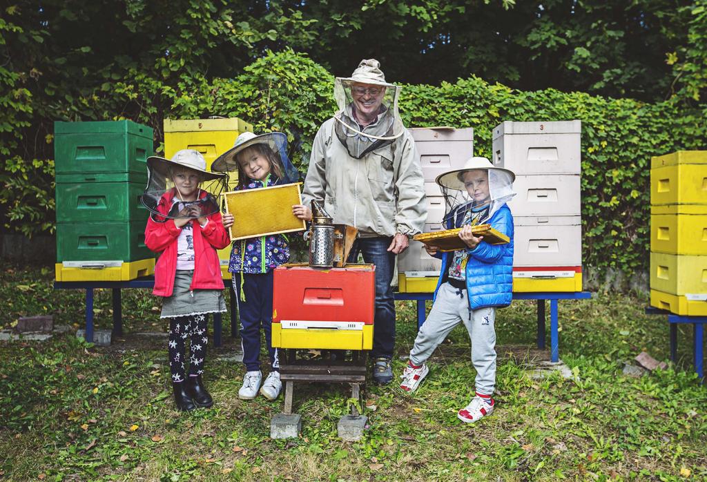
<svg viewBox="0 0 707 482"><path fill-rule="evenodd" d="M182 193L175 186L174 175L181 170L191 170L199 175L199 189L196 201L184 201ZM199 151L182 149L171 159L153 155L147 159L148 181L140 201L148 208L153 221L164 223L168 219L200 218L218 212L218 195L226 187L228 177L206 170L206 160ZM165 192L173 190L172 206L164 206Z"/></svg>

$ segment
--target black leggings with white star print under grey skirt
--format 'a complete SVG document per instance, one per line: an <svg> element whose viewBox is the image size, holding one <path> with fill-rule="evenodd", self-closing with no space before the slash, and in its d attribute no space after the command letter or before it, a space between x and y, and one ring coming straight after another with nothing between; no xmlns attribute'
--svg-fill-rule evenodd
<svg viewBox="0 0 707 482"><path fill-rule="evenodd" d="M204 373L206 358L206 321L209 315L191 315L188 317L170 318L168 350L170 353L170 371L173 382L185 380L185 340L191 342L189 347L189 376Z"/></svg>

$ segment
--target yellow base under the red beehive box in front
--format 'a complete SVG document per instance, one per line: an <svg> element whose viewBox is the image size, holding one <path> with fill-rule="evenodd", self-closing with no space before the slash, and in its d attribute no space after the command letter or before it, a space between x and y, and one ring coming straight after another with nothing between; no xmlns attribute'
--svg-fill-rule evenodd
<svg viewBox="0 0 707 482"><path fill-rule="evenodd" d="M272 324L273 348L312 348L318 350L370 350L373 348L373 325L363 330L282 329Z"/></svg>

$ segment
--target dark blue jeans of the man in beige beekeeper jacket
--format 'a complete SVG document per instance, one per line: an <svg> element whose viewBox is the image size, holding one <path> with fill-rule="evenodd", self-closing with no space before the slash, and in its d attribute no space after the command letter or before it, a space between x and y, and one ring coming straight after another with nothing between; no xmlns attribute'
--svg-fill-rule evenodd
<svg viewBox="0 0 707 482"><path fill-rule="evenodd" d="M347 262L355 263L358 253L363 261L375 264L375 318L373 319L373 358L392 358L395 348L395 300L390 282L395 269L395 254L387 251L392 237L360 237L354 242Z"/></svg>

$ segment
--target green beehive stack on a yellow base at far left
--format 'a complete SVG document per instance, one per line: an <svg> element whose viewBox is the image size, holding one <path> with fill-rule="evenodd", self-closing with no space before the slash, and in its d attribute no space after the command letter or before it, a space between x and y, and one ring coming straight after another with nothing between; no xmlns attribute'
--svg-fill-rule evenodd
<svg viewBox="0 0 707 482"><path fill-rule="evenodd" d="M54 122L57 281L127 281L154 272L145 246L153 132L135 122Z"/></svg>

